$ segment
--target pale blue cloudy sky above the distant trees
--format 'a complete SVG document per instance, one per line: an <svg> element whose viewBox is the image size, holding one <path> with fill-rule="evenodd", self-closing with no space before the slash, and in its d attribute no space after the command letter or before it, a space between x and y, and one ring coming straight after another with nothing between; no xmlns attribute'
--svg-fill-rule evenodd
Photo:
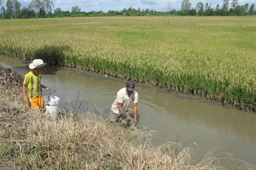
<svg viewBox="0 0 256 170"><path fill-rule="evenodd" d="M18 0L21 3L21 7L27 5L32 0ZM109 10L121 11L124 8L130 7L136 10L140 7L140 10L153 10L153 11L168 11L167 6L170 4L171 9L180 10L182 0L52 0L54 7L53 9L60 7L62 11L71 11L73 6L81 7L82 12L91 11L103 11L108 12ZM198 2L208 3L213 9L219 4L222 6L223 0L189 0L191 8L195 8ZM229 1L229 8L231 8L231 1ZM244 5L249 3L250 6L254 3L256 7L256 0L238 0L238 5Z"/></svg>

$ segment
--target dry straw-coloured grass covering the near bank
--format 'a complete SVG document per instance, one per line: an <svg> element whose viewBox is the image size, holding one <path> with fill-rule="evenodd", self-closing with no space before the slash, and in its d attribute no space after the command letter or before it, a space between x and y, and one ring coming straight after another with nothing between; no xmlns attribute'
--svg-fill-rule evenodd
<svg viewBox="0 0 256 170"><path fill-rule="evenodd" d="M20 86L0 86L0 169L225 169L218 158L194 162L175 143L152 147L150 134L93 113L53 120L21 95Z"/></svg>

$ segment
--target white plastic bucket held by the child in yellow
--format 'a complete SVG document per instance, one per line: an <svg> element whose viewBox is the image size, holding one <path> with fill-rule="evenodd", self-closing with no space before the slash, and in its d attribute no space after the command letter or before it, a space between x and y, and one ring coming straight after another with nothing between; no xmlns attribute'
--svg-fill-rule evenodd
<svg viewBox="0 0 256 170"><path fill-rule="evenodd" d="M60 98L57 96L44 96L44 104L47 113L56 115L60 111Z"/></svg>

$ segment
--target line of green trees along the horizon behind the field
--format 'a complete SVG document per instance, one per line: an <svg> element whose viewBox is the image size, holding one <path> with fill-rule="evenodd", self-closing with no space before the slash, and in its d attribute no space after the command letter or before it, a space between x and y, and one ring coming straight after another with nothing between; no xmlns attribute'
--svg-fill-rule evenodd
<svg viewBox="0 0 256 170"><path fill-rule="evenodd" d="M6 2L5 2L6 1ZM5 5L4 5L5 4ZM229 5L231 8L229 8ZM249 3L239 5L238 0L223 0L222 5L218 4L215 8L210 3L198 2L195 8L191 8L189 0L182 0L181 9L174 10L171 3L167 3L166 11L141 10L133 7L124 8L121 11L109 10L82 12L81 7L73 6L71 11L62 11L60 7L53 10L54 4L51 0L32 0L27 7L21 8L18 0L0 0L1 15L0 19L25 19L25 18L56 18L56 17L79 17L79 16L143 16L143 15L256 15L254 4L249 7Z"/></svg>

